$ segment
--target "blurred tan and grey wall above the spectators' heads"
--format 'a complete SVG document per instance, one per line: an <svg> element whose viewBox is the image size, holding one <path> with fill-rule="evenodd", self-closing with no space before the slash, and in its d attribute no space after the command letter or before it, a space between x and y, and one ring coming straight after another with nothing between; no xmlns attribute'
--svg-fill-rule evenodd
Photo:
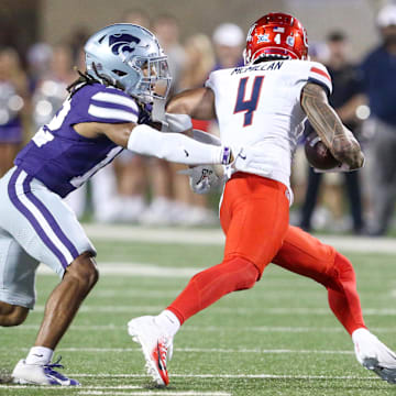
<svg viewBox="0 0 396 396"><path fill-rule="evenodd" d="M363 55L377 40L375 15L384 0L217 0L190 2L183 0L144 2L117 0L2 0L1 44L16 45L23 53L35 41L57 44L74 30L95 32L103 25L120 22L124 11L144 9L152 18L174 15L183 37L202 32L211 35L221 22L239 24L245 32L250 24L271 11L296 14L308 30L311 41L323 40L333 29L351 36L354 56ZM364 29L362 29L364 26Z"/></svg>

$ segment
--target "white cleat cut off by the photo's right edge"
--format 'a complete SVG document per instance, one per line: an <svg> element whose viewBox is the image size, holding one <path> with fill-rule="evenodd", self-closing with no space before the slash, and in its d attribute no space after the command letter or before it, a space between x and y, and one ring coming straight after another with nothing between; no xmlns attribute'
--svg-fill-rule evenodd
<svg viewBox="0 0 396 396"><path fill-rule="evenodd" d="M358 332L358 333L356 333ZM353 333L358 361L389 384L396 384L396 354L369 330Z"/></svg>

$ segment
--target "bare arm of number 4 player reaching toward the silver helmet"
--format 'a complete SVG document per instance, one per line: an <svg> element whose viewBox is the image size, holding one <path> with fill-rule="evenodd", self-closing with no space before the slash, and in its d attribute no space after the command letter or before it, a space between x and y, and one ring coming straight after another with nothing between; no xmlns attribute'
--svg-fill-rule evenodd
<svg viewBox="0 0 396 396"><path fill-rule="evenodd" d="M169 100L166 112L188 114L197 120L212 120L216 118L215 94L210 88L185 90Z"/></svg>

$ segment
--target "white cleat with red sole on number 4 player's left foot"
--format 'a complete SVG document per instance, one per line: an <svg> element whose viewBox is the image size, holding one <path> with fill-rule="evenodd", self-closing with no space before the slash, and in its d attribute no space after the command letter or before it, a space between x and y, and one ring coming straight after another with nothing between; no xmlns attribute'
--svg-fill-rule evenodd
<svg viewBox="0 0 396 396"><path fill-rule="evenodd" d="M132 319L128 332L142 346L148 375L157 385L166 386L169 383L166 363L172 359L172 337L161 330L153 316Z"/></svg>

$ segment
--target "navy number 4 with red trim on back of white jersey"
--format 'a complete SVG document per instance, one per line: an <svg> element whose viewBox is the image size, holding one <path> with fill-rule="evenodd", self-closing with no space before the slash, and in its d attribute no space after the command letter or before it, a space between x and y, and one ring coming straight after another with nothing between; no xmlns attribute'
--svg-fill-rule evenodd
<svg viewBox="0 0 396 396"><path fill-rule="evenodd" d="M234 114L245 111L243 127L249 127L253 122L253 113L257 109L261 88L263 85L264 76L255 77L253 81L253 89L250 99L245 99L246 85L249 77L241 78L238 87L237 103Z"/></svg>

